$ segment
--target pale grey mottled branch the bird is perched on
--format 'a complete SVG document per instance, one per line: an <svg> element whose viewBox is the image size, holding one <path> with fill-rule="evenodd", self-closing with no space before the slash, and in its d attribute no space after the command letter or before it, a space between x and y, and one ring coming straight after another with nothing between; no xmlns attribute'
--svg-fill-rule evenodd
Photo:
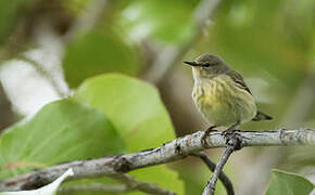
<svg viewBox="0 0 315 195"><path fill-rule="evenodd" d="M98 178L128 172L135 169L166 164L182 159L193 152L205 148L226 146L222 132L211 132L203 141L204 131L178 138L162 146L142 152L104 157L91 160L77 160L67 164L36 170L0 183L0 191L20 191L42 186L52 182L68 168L74 176L67 180ZM242 146L284 146L284 145L315 145L315 130L275 130L275 131L242 131L239 132Z"/></svg>

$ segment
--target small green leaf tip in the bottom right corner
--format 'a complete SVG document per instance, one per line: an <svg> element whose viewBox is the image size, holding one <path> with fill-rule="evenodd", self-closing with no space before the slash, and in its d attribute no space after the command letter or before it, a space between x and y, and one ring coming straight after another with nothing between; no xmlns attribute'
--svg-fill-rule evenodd
<svg viewBox="0 0 315 195"><path fill-rule="evenodd" d="M313 190L314 184L299 174L273 170L266 195L308 195Z"/></svg>

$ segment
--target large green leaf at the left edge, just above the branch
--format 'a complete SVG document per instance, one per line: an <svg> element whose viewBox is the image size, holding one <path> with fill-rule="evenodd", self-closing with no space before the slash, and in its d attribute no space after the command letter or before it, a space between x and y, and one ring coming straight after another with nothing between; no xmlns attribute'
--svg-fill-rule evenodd
<svg viewBox="0 0 315 195"><path fill-rule="evenodd" d="M123 150L123 140L103 113L70 100L56 101L2 133L0 179Z"/></svg>

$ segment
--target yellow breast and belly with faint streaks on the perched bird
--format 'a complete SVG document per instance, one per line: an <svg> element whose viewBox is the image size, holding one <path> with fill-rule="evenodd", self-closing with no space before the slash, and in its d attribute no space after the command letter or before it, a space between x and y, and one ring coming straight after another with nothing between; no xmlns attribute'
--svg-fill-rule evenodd
<svg viewBox="0 0 315 195"><path fill-rule="evenodd" d="M229 126L237 121L248 121L256 113L252 95L238 88L228 77L196 82L192 99L212 125Z"/></svg>

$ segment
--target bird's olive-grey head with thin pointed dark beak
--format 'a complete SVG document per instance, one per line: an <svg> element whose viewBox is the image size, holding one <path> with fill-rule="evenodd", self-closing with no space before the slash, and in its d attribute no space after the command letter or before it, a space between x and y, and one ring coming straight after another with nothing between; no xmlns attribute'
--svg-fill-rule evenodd
<svg viewBox="0 0 315 195"><path fill-rule="evenodd" d="M193 62L184 62L184 63L192 66L194 79L200 78L212 79L229 70L229 67L219 56L209 53L198 56Z"/></svg>

